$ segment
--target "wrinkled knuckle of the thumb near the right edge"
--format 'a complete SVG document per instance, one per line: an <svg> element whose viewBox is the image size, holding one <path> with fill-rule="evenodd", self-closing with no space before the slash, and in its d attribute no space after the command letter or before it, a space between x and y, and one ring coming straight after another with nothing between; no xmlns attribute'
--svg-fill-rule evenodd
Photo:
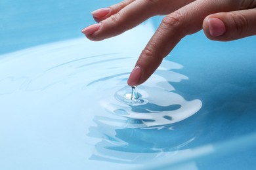
<svg viewBox="0 0 256 170"><path fill-rule="evenodd" d="M230 16L234 23L234 29L236 29L238 35L242 35L242 33L247 31L249 24L243 14L240 12L232 12L230 13Z"/></svg>

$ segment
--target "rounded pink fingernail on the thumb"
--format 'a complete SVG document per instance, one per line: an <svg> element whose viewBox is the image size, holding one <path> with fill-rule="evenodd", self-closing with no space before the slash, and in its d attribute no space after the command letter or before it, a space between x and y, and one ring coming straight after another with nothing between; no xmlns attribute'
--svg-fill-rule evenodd
<svg viewBox="0 0 256 170"><path fill-rule="evenodd" d="M208 24L211 37L219 37L226 32L224 22L219 18L209 18Z"/></svg>

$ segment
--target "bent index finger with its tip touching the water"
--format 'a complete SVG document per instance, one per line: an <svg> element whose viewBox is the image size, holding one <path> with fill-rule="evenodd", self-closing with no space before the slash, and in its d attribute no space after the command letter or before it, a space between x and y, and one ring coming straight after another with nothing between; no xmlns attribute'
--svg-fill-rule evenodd
<svg viewBox="0 0 256 170"><path fill-rule="evenodd" d="M129 86L137 86L145 82L183 37L202 29L203 20L207 15L236 9L238 5L230 5L229 0L217 2L200 0L165 16L140 54L135 69L129 76L127 82Z"/></svg>

